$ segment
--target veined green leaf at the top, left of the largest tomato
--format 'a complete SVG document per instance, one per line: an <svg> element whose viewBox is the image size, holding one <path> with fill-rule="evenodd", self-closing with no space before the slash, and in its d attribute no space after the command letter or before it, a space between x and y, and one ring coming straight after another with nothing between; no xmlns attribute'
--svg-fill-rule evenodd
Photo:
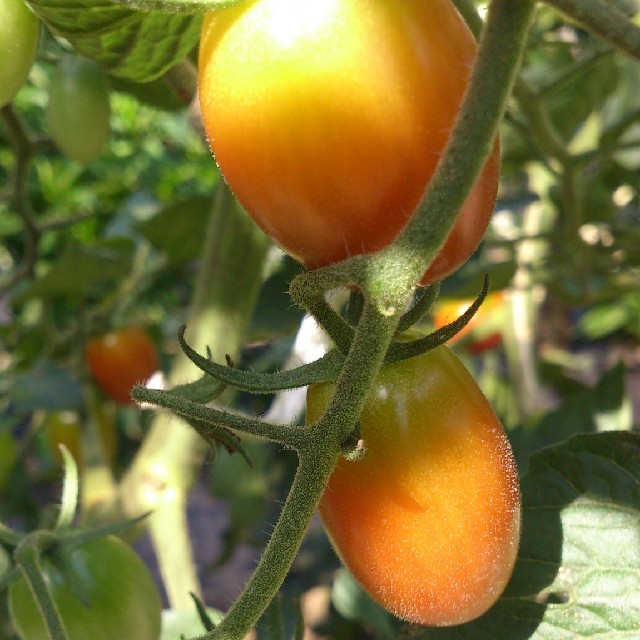
<svg viewBox="0 0 640 640"><path fill-rule="evenodd" d="M161 76L200 37L200 16L136 11L95 0L31 0L29 5L79 53L108 73L135 82Z"/></svg>

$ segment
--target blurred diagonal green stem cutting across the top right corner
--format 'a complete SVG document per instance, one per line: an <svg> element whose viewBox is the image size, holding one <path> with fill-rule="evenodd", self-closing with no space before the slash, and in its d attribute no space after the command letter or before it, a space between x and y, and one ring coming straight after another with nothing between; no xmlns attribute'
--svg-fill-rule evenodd
<svg viewBox="0 0 640 640"><path fill-rule="evenodd" d="M605 0L545 0L612 45L640 60L640 27L613 2Z"/></svg>

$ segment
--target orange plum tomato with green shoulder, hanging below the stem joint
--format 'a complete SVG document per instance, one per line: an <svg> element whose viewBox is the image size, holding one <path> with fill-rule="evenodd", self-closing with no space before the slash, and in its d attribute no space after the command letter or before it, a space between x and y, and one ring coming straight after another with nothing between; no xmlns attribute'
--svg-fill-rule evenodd
<svg viewBox="0 0 640 640"><path fill-rule="evenodd" d="M307 395L308 420L333 385ZM320 516L343 563L394 615L461 624L511 576L521 498L489 403L446 346L383 367L361 417L366 455L340 459Z"/></svg>

